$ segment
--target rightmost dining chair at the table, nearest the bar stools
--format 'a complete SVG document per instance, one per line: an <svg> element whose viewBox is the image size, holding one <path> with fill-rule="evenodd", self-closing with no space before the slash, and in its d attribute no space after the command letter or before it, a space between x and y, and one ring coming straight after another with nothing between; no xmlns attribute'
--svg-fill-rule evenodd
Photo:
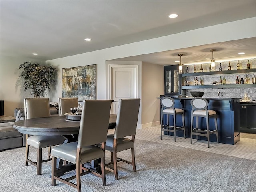
<svg viewBox="0 0 256 192"><path fill-rule="evenodd" d="M107 136L106 150L111 152L111 162L105 165L106 170L114 172L118 180L117 162L123 161L131 164L136 172L134 142L140 108L140 99L120 99L118 114L116 117L116 128L114 134ZM131 138L126 138L130 136ZM131 149L132 162L117 157L117 153ZM114 164L114 169L107 166Z"/></svg>

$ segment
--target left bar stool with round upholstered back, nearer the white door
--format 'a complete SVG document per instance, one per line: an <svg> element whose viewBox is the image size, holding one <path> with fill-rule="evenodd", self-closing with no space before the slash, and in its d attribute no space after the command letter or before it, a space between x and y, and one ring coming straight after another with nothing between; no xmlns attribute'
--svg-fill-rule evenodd
<svg viewBox="0 0 256 192"><path fill-rule="evenodd" d="M185 122L184 122L184 111L179 108L174 108L174 100L170 97L163 97L161 98L161 139L162 139L162 132L167 131L167 136L169 136L169 132L174 132L174 141L176 142L176 130L182 129L184 132L184 138L186 139L185 135ZM176 126L176 115L181 114L182 116L182 126ZM167 124L163 125L163 116L167 115ZM169 115L173 116L173 126L169 124ZM171 129L169 129L171 128Z"/></svg>

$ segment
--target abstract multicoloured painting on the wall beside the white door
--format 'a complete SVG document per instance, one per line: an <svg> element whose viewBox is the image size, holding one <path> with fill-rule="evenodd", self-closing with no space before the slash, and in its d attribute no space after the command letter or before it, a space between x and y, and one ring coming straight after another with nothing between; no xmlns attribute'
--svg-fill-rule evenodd
<svg viewBox="0 0 256 192"><path fill-rule="evenodd" d="M96 99L97 65L62 69L62 97Z"/></svg>

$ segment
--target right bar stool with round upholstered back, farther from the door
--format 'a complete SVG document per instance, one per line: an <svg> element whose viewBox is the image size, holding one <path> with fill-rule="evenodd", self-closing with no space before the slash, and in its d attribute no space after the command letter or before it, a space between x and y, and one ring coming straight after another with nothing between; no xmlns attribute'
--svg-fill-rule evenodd
<svg viewBox="0 0 256 192"><path fill-rule="evenodd" d="M216 134L217 143L219 144L218 139L218 128L217 128L217 113L213 110L208 110L208 102L205 98L202 97L195 97L191 100L191 127L190 127L190 144L192 144L192 136L196 135L196 140L198 140L198 135L207 137L208 147L209 144L209 136L210 134ZM193 118L196 117L196 127L193 128ZM198 128L198 117L206 118L206 130ZM214 118L215 122L215 130L209 130L209 118ZM196 132L194 132L196 130ZM202 133L206 132L206 133Z"/></svg>

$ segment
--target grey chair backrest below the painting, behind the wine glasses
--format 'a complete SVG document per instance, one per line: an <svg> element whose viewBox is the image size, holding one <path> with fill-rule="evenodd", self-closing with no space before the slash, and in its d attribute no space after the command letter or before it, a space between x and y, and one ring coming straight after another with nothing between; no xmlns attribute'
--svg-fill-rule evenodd
<svg viewBox="0 0 256 192"><path fill-rule="evenodd" d="M65 113L70 112L71 107L78 106L77 97L60 97L59 98L59 115L63 116Z"/></svg>

